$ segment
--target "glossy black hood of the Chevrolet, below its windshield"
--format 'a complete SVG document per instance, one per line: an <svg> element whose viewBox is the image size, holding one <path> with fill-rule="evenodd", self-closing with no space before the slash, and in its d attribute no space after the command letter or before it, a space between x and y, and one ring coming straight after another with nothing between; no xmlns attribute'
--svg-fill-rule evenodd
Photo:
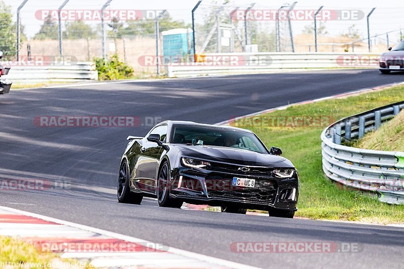
<svg viewBox="0 0 404 269"><path fill-rule="evenodd" d="M212 147L201 145L178 145L183 156L195 159L205 159L217 162L233 163L248 166L266 166L266 167L284 167L293 168L293 164L286 158L281 156L257 153L247 150L225 148L225 147Z"/></svg>

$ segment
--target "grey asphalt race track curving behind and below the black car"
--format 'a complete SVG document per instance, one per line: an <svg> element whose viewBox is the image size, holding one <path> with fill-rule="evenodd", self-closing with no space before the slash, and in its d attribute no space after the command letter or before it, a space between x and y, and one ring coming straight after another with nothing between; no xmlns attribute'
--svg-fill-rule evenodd
<svg viewBox="0 0 404 269"><path fill-rule="evenodd" d="M71 189L0 190L0 205L258 267L402 266L404 228L121 205L120 158L145 117L216 123L234 116L402 82L377 70L318 71L11 90L0 96L0 179L71 182ZM137 127L40 127L37 116L137 116ZM148 118L147 118L148 119ZM349 242L359 252L237 253L232 242Z"/></svg>

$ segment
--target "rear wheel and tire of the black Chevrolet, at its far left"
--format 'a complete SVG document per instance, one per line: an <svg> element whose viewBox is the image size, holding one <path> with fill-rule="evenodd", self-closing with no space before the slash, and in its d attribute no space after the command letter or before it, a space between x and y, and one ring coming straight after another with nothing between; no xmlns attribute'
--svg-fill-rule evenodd
<svg viewBox="0 0 404 269"><path fill-rule="evenodd" d="M129 188L129 169L125 161L122 162L119 169L118 186L117 186L118 203L140 205L143 196L130 191Z"/></svg>

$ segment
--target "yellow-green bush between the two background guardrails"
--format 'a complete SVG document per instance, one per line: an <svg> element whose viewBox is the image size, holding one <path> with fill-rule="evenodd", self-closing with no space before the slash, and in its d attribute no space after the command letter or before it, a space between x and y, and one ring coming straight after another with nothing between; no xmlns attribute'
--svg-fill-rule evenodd
<svg viewBox="0 0 404 269"><path fill-rule="evenodd" d="M118 54L112 55L109 60L94 58L98 80L122 80L133 76L133 68L119 60Z"/></svg>

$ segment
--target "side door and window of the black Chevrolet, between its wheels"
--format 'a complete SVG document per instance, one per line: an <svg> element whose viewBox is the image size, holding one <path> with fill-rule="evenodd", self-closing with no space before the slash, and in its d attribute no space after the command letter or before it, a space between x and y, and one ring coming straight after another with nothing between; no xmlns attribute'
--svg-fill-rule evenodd
<svg viewBox="0 0 404 269"><path fill-rule="evenodd" d="M142 146L138 153L134 179L139 188L150 193L156 192L156 179L163 147L159 146L156 142L148 141L147 137L150 134L159 134L160 141L166 142L167 129L167 124L154 127L147 136L142 139Z"/></svg>

